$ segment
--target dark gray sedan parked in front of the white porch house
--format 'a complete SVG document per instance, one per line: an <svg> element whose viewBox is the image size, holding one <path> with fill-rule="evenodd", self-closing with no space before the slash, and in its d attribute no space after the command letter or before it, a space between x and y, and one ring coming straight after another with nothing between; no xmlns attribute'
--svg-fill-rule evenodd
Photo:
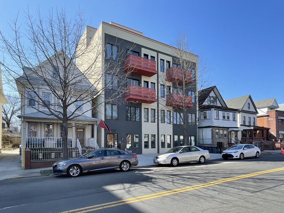
<svg viewBox="0 0 284 213"><path fill-rule="evenodd" d="M119 149L97 149L86 152L79 158L58 161L53 164L55 175L77 177L82 172L120 168L126 172L138 165L137 155Z"/></svg>

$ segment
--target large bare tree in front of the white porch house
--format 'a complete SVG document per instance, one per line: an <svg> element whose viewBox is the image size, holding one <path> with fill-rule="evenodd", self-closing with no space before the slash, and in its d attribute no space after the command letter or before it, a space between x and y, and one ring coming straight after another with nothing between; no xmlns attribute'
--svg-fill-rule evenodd
<svg viewBox="0 0 284 213"><path fill-rule="evenodd" d="M6 69L5 75L15 79L21 99L28 100L22 101L22 107L29 104L34 110L63 123L63 159L67 159L68 121L75 122L85 112L96 111L102 101L93 100L109 86L117 86L114 97L123 93L127 73L118 72L123 61L103 63L102 39L90 45L84 43L85 21L81 11L72 18L67 17L64 9L51 11L45 18L39 10L36 18L28 11L25 28L17 25L17 18L11 24L13 36L8 39L0 31L1 48L12 61L9 63L3 58L0 64ZM92 57L87 58L90 52ZM120 58L119 53L117 57ZM105 70L117 78L105 79ZM106 82L104 86L102 81ZM51 93L54 100L42 91ZM84 110L78 110L82 106Z"/></svg>

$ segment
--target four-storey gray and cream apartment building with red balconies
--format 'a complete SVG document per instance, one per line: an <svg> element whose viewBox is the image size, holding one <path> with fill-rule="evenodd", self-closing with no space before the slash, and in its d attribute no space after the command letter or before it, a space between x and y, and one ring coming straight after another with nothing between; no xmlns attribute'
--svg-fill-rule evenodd
<svg viewBox="0 0 284 213"><path fill-rule="evenodd" d="M101 59L96 66L97 70L103 67L104 75L95 87L108 88L94 100L101 104L93 117L103 119L111 133L97 129L99 147L117 147L119 143L124 143L128 150L137 154L163 153L174 146L186 145L184 121L190 126L187 131L188 144L196 144L198 56L187 53L195 64L188 70L189 78L185 78L186 84L192 86L181 92L183 80L172 46L114 22L101 22L97 29L86 26L82 43L83 48L98 45L102 50L89 51L78 57L79 63L76 63L79 69L85 69L86 61ZM115 63L120 64L117 75L112 74L115 65L105 66ZM97 72L96 69L94 72ZM120 79L123 75L127 75L126 81ZM121 96L117 92L120 86L124 88ZM184 102L187 109L183 112L186 114L179 110ZM181 116L186 119L181 119Z"/></svg>

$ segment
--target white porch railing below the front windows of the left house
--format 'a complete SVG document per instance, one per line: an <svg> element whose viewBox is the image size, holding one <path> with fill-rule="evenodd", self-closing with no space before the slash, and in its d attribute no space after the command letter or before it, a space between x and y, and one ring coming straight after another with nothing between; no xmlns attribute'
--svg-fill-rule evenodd
<svg viewBox="0 0 284 213"><path fill-rule="evenodd" d="M62 148L62 138L27 137L26 148ZM72 138L68 138L68 148L72 148Z"/></svg>

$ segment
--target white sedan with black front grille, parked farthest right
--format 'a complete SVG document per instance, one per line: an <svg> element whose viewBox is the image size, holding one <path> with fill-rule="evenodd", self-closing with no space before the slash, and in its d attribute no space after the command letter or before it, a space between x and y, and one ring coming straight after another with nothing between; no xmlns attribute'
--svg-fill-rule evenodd
<svg viewBox="0 0 284 213"><path fill-rule="evenodd" d="M259 158L260 149L252 144L238 144L231 146L222 152L222 158L227 160L228 158L244 159L245 157Z"/></svg>

